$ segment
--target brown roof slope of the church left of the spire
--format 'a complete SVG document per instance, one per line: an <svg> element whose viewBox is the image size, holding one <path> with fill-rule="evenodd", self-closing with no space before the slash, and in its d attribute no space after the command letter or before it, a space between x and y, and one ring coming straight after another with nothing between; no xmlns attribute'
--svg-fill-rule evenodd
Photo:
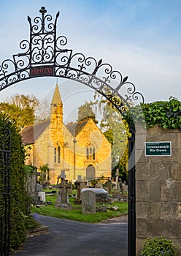
<svg viewBox="0 0 181 256"><path fill-rule="evenodd" d="M49 126L50 120L40 121L36 124L28 125L27 127L23 128L20 132L22 137L23 143L32 144L34 141L39 138L42 132Z"/></svg>

